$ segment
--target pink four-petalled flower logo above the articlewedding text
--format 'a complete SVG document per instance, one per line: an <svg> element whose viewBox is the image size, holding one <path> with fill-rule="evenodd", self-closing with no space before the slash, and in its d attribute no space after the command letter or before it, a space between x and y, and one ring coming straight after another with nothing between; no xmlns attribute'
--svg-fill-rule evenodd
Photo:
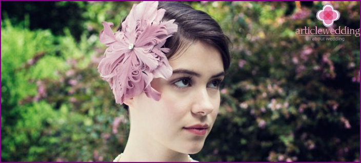
<svg viewBox="0 0 361 163"><path fill-rule="evenodd" d="M333 21L338 20L339 12L337 10L333 10L333 6L331 4L326 4L322 10L319 10L316 14L318 20L322 21L325 27L331 27L333 25Z"/></svg>

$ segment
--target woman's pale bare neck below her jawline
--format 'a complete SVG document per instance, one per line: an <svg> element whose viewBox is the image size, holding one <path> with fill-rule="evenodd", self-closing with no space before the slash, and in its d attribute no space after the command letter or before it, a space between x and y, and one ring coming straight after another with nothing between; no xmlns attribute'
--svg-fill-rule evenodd
<svg viewBox="0 0 361 163"><path fill-rule="evenodd" d="M173 151L154 139L144 136L142 130L130 127L129 138L120 161L189 161L188 154Z"/></svg>

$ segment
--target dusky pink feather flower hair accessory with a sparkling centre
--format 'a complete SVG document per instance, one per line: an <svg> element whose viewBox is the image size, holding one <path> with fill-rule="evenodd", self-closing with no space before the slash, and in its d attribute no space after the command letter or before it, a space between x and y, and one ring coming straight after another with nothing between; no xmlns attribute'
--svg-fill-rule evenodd
<svg viewBox="0 0 361 163"><path fill-rule="evenodd" d="M123 104L142 92L158 101L161 94L151 87L153 78L168 79L172 75L162 48L168 37L177 32L174 19L162 21L166 10L157 9L158 2L133 5L122 30L112 32L112 22L103 21L99 40L108 46L99 62L98 72L113 91L115 102Z"/></svg>

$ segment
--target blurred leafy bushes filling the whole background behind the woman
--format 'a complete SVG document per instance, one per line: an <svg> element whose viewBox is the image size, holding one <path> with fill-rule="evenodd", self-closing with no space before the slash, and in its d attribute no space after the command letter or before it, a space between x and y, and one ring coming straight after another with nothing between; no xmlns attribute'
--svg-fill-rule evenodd
<svg viewBox="0 0 361 163"><path fill-rule="evenodd" d="M111 161L123 151L129 123L97 73L106 48L97 35L133 3L2 2L2 161ZM359 160L359 37L295 35L323 27L322 2L185 3L233 43L218 118L193 158ZM332 4L337 26L359 28L359 2Z"/></svg>

